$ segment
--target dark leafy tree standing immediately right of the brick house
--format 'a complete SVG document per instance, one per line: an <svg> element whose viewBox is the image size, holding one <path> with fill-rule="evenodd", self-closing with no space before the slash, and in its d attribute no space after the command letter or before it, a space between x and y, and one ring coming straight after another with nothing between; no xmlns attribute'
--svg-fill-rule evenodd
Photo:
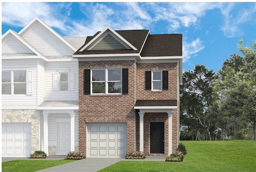
<svg viewBox="0 0 256 172"><path fill-rule="evenodd" d="M190 126L201 128L193 128L197 130L204 130L206 133L205 140L212 140L211 133L216 129L214 126L215 115L211 111L211 106L215 101L213 95L213 82L216 80L216 74L213 70L208 70L204 65L196 65L193 71L184 72L183 85L181 86L180 106L181 112L181 126L188 126L188 121L196 121L198 125L190 123ZM186 122L186 119L187 122ZM184 125L185 124L185 125ZM212 127L210 128L210 127ZM210 129L212 131L210 132Z"/></svg>

